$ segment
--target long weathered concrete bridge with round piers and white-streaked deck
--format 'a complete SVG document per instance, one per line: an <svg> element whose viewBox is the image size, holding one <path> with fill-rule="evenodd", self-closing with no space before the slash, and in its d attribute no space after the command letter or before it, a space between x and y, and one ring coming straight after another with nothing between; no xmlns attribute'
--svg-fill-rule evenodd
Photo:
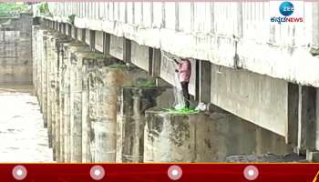
<svg viewBox="0 0 319 182"><path fill-rule="evenodd" d="M319 6L304 2L304 23L284 25L269 22L269 8L34 5L33 83L55 159L199 162L295 151L315 160ZM170 56L191 58L192 104L210 104L210 111L170 116L154 109L174 99ZM137 86L152 79L154 89Z"/></svg>

